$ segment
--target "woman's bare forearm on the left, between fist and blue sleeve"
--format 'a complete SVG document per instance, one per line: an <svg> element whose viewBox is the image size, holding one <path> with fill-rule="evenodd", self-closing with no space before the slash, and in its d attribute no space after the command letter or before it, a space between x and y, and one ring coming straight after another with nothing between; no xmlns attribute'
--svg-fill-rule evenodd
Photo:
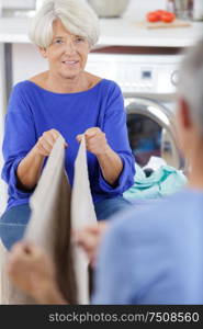
<svg viewBox="0 0 203 329"><path fill-rule="evenodd" d="M16 175L23 188L27 190L34 189L41 177L42 167L45 157L36 152L35 147L20 162Z"/></svg>

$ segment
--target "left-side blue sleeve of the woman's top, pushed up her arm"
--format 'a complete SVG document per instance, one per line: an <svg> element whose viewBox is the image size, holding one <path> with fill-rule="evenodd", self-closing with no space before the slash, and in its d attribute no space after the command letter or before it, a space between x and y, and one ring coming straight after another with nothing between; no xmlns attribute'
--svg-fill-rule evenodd
<svg viewBox="0 0 203 329"><path fill-rule="evenodd" d="M11 93L4 124L2 179L9 185L9 195L15 200L30 196L18 188L16 169L21 160L36 143L36 133L32 112L23 95L21 84L16 84Z"/></svg>

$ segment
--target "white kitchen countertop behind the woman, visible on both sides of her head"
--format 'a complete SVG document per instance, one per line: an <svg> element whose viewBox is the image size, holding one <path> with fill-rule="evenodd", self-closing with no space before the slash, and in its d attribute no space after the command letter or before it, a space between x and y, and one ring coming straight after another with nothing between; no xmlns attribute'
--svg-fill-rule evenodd
<svg viewBox="0 0 203 329"><path fill-rule="evenodd" d="M0 43L30 43L29 19L1 18ZM145 30L126 19L101 19L98 46L187 47L203 36L203 22L190 27Z"/></svg>

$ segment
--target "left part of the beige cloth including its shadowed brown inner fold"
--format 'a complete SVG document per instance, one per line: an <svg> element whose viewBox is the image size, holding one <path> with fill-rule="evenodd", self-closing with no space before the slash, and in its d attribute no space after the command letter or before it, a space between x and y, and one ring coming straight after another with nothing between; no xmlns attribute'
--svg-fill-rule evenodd
<svg viewBox="0 0 203 329"><path fill-rule="evenodd" d="M65 173L64 138L59 137L30 200L32 215L24 240L45 249L56 265L57 282L65 298L76 304L76 284L70 247L70 185ZM8 251L7 251L8 253ZM4 304L35 304L3 275Z"/></svg>

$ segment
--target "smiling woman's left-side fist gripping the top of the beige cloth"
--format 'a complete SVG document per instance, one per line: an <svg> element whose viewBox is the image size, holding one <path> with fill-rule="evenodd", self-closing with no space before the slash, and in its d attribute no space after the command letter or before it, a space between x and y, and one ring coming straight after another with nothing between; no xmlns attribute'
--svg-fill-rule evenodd
<svg viewBox="0 0 203 329"><path fill-rule="evenodd" d="M43 135L38 138L38 141L34 146L33 150L35 154L41 155L43 157L48 157L52 152L52 149L56 143L56 139L60 136L60 133L56 129L50 129L48 132L43 133ZM65 143L65 147L67 147L67 143Z"/></svg>

